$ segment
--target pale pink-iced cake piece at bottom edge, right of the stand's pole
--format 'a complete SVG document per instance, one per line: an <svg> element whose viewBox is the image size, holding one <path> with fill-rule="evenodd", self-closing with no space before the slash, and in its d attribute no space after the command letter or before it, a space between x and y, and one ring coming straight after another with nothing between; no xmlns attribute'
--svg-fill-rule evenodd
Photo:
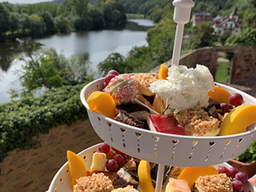
<svg viewBox="0 0 256 192"><path fill-rule="evenodd" d="M165 192L191 192L186 180L170 178Z"/></svg>

